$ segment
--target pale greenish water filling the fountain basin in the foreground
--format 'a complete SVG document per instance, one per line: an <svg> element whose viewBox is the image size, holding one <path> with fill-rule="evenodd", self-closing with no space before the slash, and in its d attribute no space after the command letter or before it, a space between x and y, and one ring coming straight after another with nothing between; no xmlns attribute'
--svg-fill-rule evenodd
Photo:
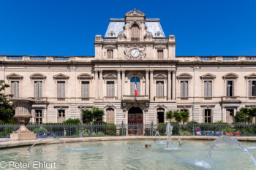
<svg viewBox="0 0 256 170"><path fill-rule="evenodd" d="M178 141L173 140L178 147ZM0 150L1 161L56 162L57 169L255 169L256 166L235 145L219 145L205 161L207 140L183 140L181 150L166 150L152 140L79 142L35 145ZM145 144L152 144L150 149ZM245 148L255 142L241 142ZM255 157L256 150L250 150Z"/></svg>

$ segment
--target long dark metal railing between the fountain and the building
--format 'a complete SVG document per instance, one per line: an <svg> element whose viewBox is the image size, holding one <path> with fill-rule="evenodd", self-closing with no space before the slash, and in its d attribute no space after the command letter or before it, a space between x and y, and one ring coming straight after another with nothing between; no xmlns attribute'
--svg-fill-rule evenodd
<svg viewBox="0 0 256 170"><path fill-rule="evenodd" d="M13 131L18 130L20 125L0 125L0 138L9 138ZM79 124L49 124L27 125L30 131L34 131L38 138L49 134L59 137L79 137ZM196 130L200 129L200 132ZM165 136L166 124L125 124L118 125L82 125L83 137L94 136L154 136L156 131ZM256 124L186 124L173 125L173 136L256 136Z"/></svg>

